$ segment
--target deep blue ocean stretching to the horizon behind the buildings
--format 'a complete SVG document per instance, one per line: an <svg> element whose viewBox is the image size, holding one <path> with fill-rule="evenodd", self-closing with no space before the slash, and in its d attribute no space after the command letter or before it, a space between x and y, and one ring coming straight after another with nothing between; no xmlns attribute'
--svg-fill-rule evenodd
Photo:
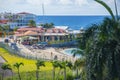
<svg viewBox="0 0 120 80"><path fill-rule="evenodd" d="M100 23L108 16L37 16L36 22L54 23L55 26L69 26L71 29L79 30L87 28L91 24Z"/></svg>

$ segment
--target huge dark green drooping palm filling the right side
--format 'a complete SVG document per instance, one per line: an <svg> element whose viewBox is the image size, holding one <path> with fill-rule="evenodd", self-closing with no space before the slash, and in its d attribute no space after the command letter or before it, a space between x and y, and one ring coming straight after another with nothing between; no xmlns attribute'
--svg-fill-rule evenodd
<svg viewBox="0 0 120 80"><path fill-rule="evenodd" d="M86 58L86 79L119 80L120 22L115 19L106 3L95 1L102 4L112 18L105 18L102 23L91 25L79 40L79 47Z"/></svg>

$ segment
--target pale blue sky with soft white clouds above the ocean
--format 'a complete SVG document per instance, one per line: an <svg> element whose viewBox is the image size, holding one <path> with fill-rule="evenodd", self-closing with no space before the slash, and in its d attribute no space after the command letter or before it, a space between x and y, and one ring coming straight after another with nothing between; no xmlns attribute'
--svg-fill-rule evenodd
<svg viewBox="0 0 120 80"><path fill-rule="evenodd" d="M106 2L115 13L114 0ZM120 0L116 0L120 6ZM29 12L43 15L109 15L107 10L94 0L0 0L1 12ZM120 7L118 7L120 14Z"/></svg>

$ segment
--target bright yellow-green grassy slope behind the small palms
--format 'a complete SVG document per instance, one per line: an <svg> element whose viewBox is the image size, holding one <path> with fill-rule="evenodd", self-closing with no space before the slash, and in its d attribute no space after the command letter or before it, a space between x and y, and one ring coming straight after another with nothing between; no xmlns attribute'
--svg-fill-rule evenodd
<svg viewBox="0 0 120 80"><path fill-rule="evenodd" d="M8 61L8 63L11 64L12 66L16 62L23 62L24 66L21 66L20 68L21 72L28 72L28 71L36 70L35 60L29 60L29 59L25 59L19 56L12 55L3 48L0 48L0 55L3 56ZM50 62L45 62L45 64L46 64L46 67L41 67L41 71L45 71L45 70L49 71L52 69L52 64ZM16 71L14 67L12 68L14 71Z"/></svg>

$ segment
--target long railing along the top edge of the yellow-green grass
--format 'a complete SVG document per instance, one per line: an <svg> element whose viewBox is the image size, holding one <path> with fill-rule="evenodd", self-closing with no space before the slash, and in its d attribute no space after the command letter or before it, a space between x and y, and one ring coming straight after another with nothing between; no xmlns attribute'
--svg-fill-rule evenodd
<svg viewBox="0 0 120 80"><path fill-rule="evenodd" d="M0 42L0 47L8 50L11 54L18 55L18 56L21 56L21 57L24 57L24 58L27 58L27 59L54 60L53 56L51 58L51 56L46 57L46 55L44 53L39 53L37 51L32 52L30 49L28 49L27 47L25 47L22 44L16 44L16 47L18 49L15 49L15 48L12 48L11 46L9 46L6 43ZM58 52L58 51L56 51L56 52ZM55 56L58 57L57 60L62 61L64 59L64 60L69 60L69 61L72 61L72 62L74 61L72 57L70 57L70 56L68 57L68 55L63 54L61 52L58 52L58 53L60 53L60 54L54 55L54 57Z"/></svg>

